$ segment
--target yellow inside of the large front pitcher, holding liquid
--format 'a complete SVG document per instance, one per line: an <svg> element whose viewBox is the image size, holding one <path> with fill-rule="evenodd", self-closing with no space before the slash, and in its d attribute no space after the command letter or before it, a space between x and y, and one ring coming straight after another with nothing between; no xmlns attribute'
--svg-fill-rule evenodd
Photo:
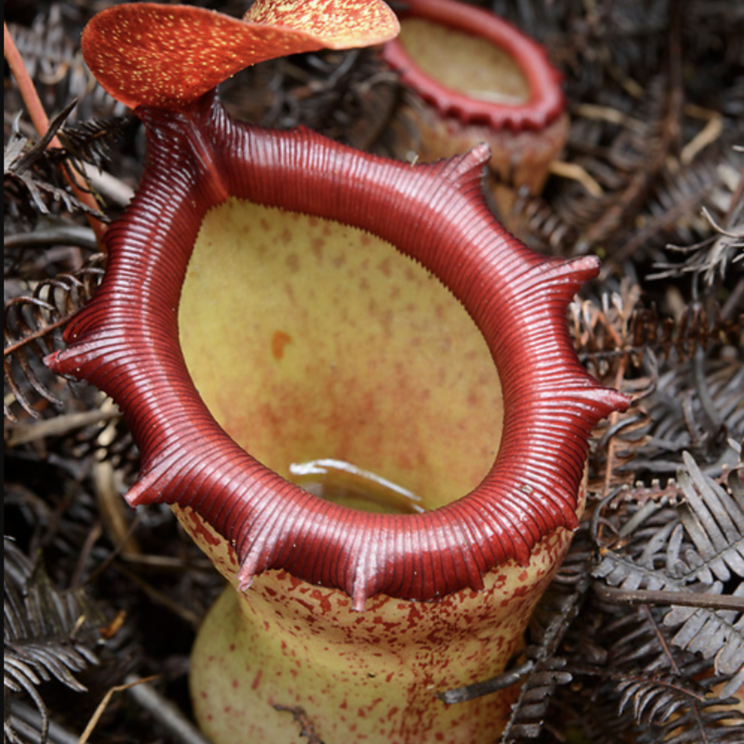
<svg viewBox="0 0 744 744"><path fill-rule="evenodd" d="M430 272L358 228L242 199L213 208L179 340L225 432L337 503L432 510L496 458L503 400L481 332Z"/></svg>

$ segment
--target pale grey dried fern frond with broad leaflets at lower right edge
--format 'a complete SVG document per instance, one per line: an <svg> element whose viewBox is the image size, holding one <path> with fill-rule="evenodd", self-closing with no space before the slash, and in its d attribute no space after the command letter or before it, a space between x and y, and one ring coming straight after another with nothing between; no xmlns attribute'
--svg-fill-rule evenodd
<svg viewBox="0 0 744 744"><path fill-rule="evenodd" d="M649 510L652 516L626 532L617 549L603 549L593 574L623 591L684 595L688 606L663 618L665 628L676 629L669 643L713 659L714 673L728 678L722 690L727 697L744 684L744 489L726 490L688 453L676 488L679 505ZM705 600L711 595L731 597L734 609L715 609ZM673 599L668 603L674 605ZM649 658L656 658L646 668L656 671L670 652L649 643ZM626 655L618 652L618 663L641 661L637 639L626 635L623 644Z"/></svg>

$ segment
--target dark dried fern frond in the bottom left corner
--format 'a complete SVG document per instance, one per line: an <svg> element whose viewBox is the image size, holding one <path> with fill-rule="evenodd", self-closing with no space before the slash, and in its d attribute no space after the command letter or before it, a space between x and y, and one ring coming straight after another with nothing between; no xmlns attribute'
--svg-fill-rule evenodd
<svg viewBox="0 0 744 744"><path fill-rule="evenodd" d="M103 625L100 612L82 590L57 591L39 564L33 566L8 539L4 540L4 691L25 692L42 716L42 739L48 714L39 691L56 679L83 691L73 673L97 664L93 647ZM6 740L19 741L5 705Z"/></svg>

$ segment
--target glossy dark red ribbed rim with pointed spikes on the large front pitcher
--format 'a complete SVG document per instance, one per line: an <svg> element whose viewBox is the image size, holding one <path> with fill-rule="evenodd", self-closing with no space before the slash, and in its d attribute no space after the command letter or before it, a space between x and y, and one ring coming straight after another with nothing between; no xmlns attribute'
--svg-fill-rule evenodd
<svg viewBox="0 0 744 744"><path fill-rule="evenodd" d="M68 350L48 358L124 411L143 461L130 504L196 510L235 546L246 586L283 568L346 591L355 609L377 593L431 600L480 589L493 566L525 563L545 533L576 527L591 429L628 405L581 367L565 322L599 263L543 257L498 225L480 190L487 147L411 166L307 129L239 124L214 97L188 113L138 114L150 138L141 187L106 233L103 286L68 326ZM504 395L501 446L476 490L429 513L357 512L285 481L222 431L185 366L177 307L202 219L228 195L371 231L464 304Z"/></svg>

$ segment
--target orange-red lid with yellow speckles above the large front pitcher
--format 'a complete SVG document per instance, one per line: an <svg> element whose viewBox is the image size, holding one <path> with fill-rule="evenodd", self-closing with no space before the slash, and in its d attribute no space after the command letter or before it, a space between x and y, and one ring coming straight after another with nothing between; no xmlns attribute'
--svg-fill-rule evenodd
<svg viewBox="0 0 744 744"><path fill-rule="evenodd" d="M256 62L376 44L398 31L379 0L347 0L337 9L340 18L327 2L319 18L317 4L260 2L243 20L188 5L115 5L86 25L83 57L103 89L126 106L178 110Z"/></svg>

